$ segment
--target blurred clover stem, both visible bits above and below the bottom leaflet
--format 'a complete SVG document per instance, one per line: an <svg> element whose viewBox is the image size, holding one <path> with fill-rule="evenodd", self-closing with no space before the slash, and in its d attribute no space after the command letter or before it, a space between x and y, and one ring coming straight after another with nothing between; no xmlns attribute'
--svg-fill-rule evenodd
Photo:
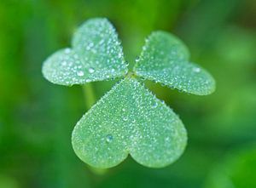
<svg viewBox="0 0 256 188"><path fill-rule="evenodd" d="M92 105L96 103L96 95L94 93L93 84L92 83L86 83L83 86L83 93L84 93L84 100L85 100L85 107L88 111ZM101 168L93 168L90 167L90 171L97 175L103 175L107 172L107 169L101 169Z"/></svg>

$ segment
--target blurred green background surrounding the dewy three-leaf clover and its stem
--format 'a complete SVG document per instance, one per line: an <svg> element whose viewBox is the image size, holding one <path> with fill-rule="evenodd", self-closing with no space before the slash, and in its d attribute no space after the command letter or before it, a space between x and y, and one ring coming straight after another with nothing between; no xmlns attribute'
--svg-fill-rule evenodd
<svg viewBox="0 0 256 188"><path fill-rule="evenodd" d="M172 165L128 158L99 175L75 156L82 88L47 82L41 66L92 17L113 22L130 63L151 31L171 31L216 78L203 97L148 83L188 129ZM0 188L256 187L255 0L1 0L0 26ZM93 83L97 99L113 83Z"/></svg>

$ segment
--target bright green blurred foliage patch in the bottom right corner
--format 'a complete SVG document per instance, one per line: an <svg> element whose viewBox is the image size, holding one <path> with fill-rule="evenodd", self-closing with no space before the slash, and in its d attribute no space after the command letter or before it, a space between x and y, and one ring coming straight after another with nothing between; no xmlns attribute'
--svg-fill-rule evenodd
<svg viewBox="0 0 256 188"><path fill-rule="evenodd" d="M252 147L252 146L251 146ZM216 164L206 181L207 188L250 188L256 186L256 149L245 145L242 151L229 153L223 163Z"/></svg>

